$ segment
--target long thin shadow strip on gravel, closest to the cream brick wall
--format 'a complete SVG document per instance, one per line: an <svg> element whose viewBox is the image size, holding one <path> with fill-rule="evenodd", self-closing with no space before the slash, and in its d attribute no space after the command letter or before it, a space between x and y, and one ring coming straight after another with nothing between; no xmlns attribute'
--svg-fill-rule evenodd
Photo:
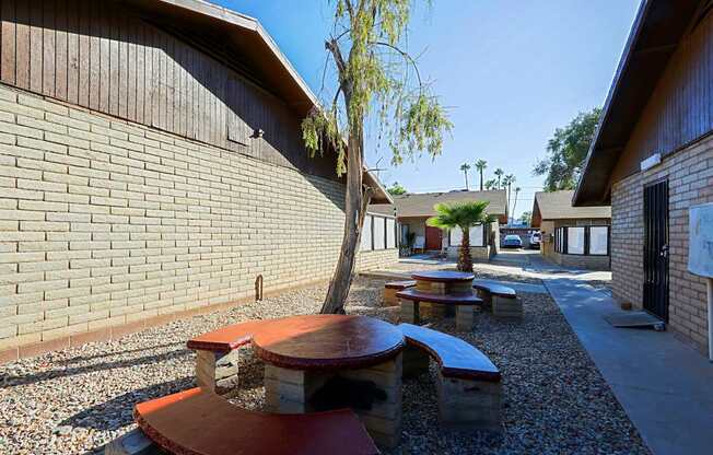
<svg viewBox="0 0 713 455"><path fill-rule="evenodd" d="M151 347L151 348L147 348L145 350L154 350L154 349L155 349L154 347ZM125 353L126 352L116 352L115 355L120 357L124 355ZM74 376L78 374L91 373L95 371L107 371L114 369L124 369L128 366L160 363L166 360L189 357L191 355L191 353L192 351L186 348L182 348L182 349L176 349L174 351L163 352L161 354L144 355L137 359L121 359L113 362L102 362L102 363L95 363L95 364L83 365L83 366L58 368L55 370L43 371L36 374L28 374L25 376L4 376L4 377L0 377L0 389L14 387L19 385L40 383L57 377Z"/></svg>

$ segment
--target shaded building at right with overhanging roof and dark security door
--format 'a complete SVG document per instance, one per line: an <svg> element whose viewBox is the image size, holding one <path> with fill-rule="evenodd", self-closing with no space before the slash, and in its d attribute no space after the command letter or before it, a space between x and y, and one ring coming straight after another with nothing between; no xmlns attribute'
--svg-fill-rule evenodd
<svg viewBox="0 0 713 455"><path fill-rule="evenodd" d="M611 205L613 295L705 350L706 295L687 270L689 209L713 201L713 14L643 2L574 205Z"/></svg>

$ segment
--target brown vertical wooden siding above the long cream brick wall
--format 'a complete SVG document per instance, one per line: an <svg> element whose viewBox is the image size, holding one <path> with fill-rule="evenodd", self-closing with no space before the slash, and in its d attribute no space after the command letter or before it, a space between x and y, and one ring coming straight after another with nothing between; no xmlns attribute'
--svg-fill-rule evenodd
<svg viewBox="0 0 713 455"><path fill-rule="evenodd" d="M7 84L335 178L334 160L308 158L281 100L119 5L1 0L0 20Z"/></svg>

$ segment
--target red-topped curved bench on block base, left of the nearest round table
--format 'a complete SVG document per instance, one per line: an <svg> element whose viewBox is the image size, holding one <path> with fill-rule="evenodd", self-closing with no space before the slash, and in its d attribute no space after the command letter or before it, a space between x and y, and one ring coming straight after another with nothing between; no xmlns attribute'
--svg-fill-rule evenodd
<svg viewBox="0 0 713 455"><path fill-rule="evenodd" d="M196 351L196 382L217 394L229 394L237 387L237 366L242 347L253 335L271 323L248 320L209 331L189 340L186 346Z"/></svg>

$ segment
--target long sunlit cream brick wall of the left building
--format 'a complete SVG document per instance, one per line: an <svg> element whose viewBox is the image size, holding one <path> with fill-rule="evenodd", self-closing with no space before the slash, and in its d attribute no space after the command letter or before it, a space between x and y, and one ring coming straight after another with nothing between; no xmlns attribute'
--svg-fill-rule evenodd
<svg viewBox="0 0 713 455"><path fill-rule="evenodd" d="M4 85L0 100L0 350L334 271L341 184Z"/></svg>

